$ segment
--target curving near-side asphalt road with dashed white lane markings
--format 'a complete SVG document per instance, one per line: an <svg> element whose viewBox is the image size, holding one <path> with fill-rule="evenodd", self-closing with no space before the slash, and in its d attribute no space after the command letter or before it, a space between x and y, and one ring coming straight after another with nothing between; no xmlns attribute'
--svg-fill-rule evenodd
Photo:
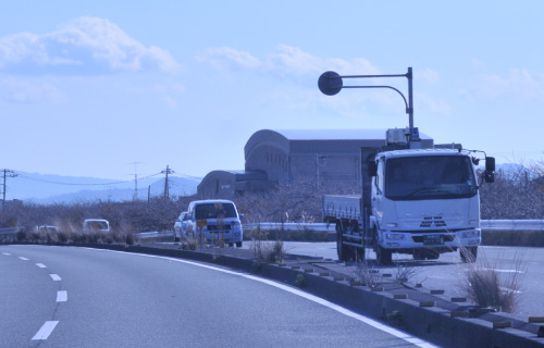
<svg viewBox="0 0 544 348"><path fill-rule="evenodd" d="M298 289L195 262L0 246L1 347L431 347Z"/></svg>

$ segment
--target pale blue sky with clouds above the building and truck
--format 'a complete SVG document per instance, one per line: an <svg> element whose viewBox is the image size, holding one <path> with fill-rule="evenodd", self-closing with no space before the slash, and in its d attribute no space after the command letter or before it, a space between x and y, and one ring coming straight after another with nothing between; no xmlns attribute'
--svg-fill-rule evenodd
<svg viewBox="0 0 544 348"><path fill-rule="evenodd" d="M259 129L408 126L544 156L543 1L0 1L0 169L131 179L243 170ZM350 79L388 85L407 79Z"/></svg>

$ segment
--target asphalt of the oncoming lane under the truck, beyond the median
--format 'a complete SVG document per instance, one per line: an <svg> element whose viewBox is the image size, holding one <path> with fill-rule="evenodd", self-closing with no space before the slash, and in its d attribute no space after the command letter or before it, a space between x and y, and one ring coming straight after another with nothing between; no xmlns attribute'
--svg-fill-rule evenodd
<svg viewBox="0 0 544 348"><path fill-rule="evenodd" d="M336 243L285 241L288 253L338 260ZM246 248L250 248L247 243ZM375 254L367 249L367 259L372 263ZM459 252L441 254L436 261L413 261L411 256L394 254L399 265L387 268L373 264L383 273L410 272L410 282L421 283L428 289L443 289L446 296L466 297L466 274L474 264L462 263ZM519 282L516 290L518 299L512 314L527 320L528 316L544 316L544 248L527 247L479 247L477 266L496 270L509 286L512 277ZM353 263L346 265L347 273Z"/></svg>

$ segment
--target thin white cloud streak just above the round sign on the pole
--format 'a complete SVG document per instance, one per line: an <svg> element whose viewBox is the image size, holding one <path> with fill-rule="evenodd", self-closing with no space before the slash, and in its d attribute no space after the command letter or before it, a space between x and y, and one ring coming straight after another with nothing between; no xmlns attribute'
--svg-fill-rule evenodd
<svg viewBox="0 0 544 348"><path fill-rule="evenodd" d="M280 45L263 59L249 52L223 47L208 49L197 57L198 61L211 64L217 69L235 66L246 70L262 70L279 74L316 76L325 71L336 71L341 74L380 74L380 71L366 59L323 59L302 51L298 47Z"/></svg>

